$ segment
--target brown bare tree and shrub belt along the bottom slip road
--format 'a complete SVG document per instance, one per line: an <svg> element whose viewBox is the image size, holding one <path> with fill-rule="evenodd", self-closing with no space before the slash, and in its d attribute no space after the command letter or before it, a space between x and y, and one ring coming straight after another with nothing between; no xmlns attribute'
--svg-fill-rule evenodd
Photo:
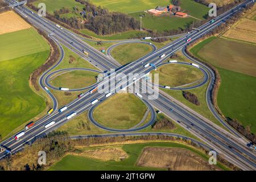
<svg viewBox="0 0 256 182"><path fill-rule="evenodd" d="M199 143L193 142L189 138L180 137L168 137L164 135L147 135L137 137L92 137L74 139L68 137L65 131L52 131L48 135L38 138L30 146L25 145L22 151L17 152L15 155L10 155L7 158L0 161L0 170L6 171L40 171L46 170L52 166L53 163L59 161L66 154L70 154L76 151L77 147L88 147L92 145L123 143L129 141L152 141L152 140L164 140L168 142L180 142L188 144L189 146L197 148L197 150L208 155L209 150ZM38 164L38 152L45 151L47 160L46 165L40 166ZM226 166L239 170L236 166L229 163L227 160L221 157L221 154L217 156L218 162L225 164Z"/></svg>

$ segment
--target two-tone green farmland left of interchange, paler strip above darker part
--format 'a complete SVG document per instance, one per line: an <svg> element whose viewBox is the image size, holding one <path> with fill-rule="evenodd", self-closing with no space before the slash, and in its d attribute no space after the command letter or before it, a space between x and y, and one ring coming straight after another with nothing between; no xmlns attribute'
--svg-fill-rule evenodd
<svg viewBox="0 0 256 182"><path fill-rule="evenodd" d="M46 109L46 100L32 91L28 78L50 51L34 28L2 34L0 40L0 134L4 138Z"/></svg>

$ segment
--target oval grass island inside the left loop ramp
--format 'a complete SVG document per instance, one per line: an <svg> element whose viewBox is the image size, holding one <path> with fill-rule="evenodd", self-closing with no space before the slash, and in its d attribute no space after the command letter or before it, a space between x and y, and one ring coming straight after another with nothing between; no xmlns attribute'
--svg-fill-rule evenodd
<svg viewBox="0 0 256 182"><path fill-rule="evenodd" d="M51 84L56 87L71 89L84 88L96 82L98 73L90 71L72 71L52 78Z"/></svg>

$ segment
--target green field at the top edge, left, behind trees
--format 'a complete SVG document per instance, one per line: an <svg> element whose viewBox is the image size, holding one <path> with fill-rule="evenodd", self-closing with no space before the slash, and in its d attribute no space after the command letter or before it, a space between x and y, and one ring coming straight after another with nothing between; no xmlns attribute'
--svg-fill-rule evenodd
<svg viewBox="0 0 256 182"><path fill-rule="evenodd" d="M34 6L38 6L39 3L45 3L46 4L46 11L50 14L53 14L55 10L59 10L63 7L68 8L70 10L73 9L73 7L77 6L79 9L82 10L83 5L81 3L76 2L75 0L38 0L32 3Z"/></svg>

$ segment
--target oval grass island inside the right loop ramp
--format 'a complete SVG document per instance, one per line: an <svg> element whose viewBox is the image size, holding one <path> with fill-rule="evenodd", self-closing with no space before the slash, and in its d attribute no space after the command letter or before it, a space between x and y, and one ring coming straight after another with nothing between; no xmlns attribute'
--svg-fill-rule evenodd
<svg viewBox="0 0 256 182"><path fill-rule="evenodd" d="M190 84L203 78L203 73L199 69L181 64L164 65L151 73L159 74L160 85L171 87Z"/></svg>

